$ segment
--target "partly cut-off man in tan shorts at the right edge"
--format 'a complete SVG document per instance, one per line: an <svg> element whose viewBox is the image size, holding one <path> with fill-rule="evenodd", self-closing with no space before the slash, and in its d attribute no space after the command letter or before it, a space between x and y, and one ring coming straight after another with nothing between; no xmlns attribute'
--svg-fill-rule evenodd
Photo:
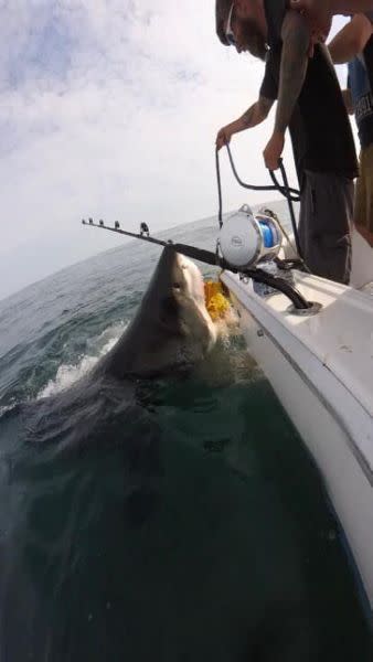
<svg viewBox="0 0 373 662"><path fill-rule="evenodd" d="M335 64L349 63L348 102L361 143L353 234L353 285L373 279L373 36L371 14L354 14L329 45Z"/></svg>

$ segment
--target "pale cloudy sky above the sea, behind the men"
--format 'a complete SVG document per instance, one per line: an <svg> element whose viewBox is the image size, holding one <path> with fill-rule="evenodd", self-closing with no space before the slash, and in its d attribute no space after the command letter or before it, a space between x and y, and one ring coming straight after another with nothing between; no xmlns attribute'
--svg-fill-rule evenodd
<svg viewBox="0 0 373 662"><path fill-rule="evenodd" d="M214 4L0 0L0 299L122 244L83 217L157 234L216 213L215 136L256 100L263 64L220 44ZM270 183L271 127L232 141L246 181ZM222 161L225 210L265 200ZM285 163L296 183L288 139Z"/></svg>

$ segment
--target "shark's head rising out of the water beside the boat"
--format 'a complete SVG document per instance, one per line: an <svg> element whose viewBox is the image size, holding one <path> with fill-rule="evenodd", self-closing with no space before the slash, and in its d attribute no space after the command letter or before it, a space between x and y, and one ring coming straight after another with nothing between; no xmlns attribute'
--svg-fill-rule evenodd
<svg viewBox="0 0 373 662"><path fill-rule="evenodd" d="M203 361L215 342L200 269L167 246L134 320L95 373L120 380L171 374Z"/></svg>

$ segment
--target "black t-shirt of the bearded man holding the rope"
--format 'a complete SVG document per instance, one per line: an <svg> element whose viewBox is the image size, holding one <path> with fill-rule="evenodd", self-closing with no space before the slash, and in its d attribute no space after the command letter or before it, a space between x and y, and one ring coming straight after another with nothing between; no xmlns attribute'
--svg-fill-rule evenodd
<svg viewBox="0 0 373 662"><path fill-rule="evenodd" d="M281 64L285 0L265 0L268 51L260 95L277 99ZM334 67L324 46L317 45L308 62L305 84L289 126L298 178L302 172L333 172L358 177L350 120Z"/></svg>

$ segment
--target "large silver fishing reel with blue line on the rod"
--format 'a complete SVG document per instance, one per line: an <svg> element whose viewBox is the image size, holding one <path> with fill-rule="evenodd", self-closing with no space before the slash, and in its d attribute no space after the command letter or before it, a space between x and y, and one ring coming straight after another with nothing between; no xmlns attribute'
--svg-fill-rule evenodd
<svg viewBox="0 0 373 662"><path fill-rule="evenodd" d="M276 218L267 213L254 214L244 204L224 221L219 245L224 259L236 269L249 269L278 256L283 233Z"/></svg>

